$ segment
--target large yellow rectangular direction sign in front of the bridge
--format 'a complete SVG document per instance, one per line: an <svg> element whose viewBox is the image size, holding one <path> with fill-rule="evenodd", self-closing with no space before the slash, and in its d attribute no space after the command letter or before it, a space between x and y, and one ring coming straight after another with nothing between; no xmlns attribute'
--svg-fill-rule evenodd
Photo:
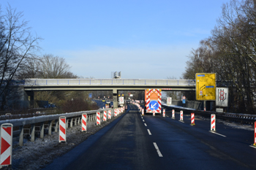
<svg viewBox="0 0 256 170"><path fill-rule="evenodd" d="M216 73L195 74L195 96L197 101L215 101Z"/></svg>

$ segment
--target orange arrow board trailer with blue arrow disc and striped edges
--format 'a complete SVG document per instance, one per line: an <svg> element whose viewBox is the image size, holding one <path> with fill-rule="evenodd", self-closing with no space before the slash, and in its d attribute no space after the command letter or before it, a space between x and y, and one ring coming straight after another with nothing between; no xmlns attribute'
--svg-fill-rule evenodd
<svg viewBox="0 0 256 170"><path fill-rule="evenodd" d="M156 113L161 113L162 90L147 89L145 90L145 96L146 96L146 112L153 113L153 110L155 109Z"/></svg>

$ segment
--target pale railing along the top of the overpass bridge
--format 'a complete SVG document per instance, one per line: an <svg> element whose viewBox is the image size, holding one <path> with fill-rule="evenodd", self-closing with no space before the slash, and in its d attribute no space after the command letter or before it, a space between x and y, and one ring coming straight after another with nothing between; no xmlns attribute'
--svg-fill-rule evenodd
<svg viewBox="0 0 256 170"><path fill-rule="evenodd" d="M195 80L129 80L129 79L26 79L19 85L191 85Z"/></svg>

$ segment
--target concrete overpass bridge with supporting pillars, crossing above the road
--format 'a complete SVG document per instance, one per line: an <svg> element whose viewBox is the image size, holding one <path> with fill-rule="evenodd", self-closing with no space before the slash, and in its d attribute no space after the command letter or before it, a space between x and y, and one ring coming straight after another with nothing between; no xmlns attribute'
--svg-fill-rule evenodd
<svg viewBox="0 0 256 170"><path fill-rule="evenodd" d="M113 107L118 106L118 90L195 90L195 80L170 79L27 79L18 82L26 92L30 104L34 103L34 91L44 90L112 90Z"/></svg>

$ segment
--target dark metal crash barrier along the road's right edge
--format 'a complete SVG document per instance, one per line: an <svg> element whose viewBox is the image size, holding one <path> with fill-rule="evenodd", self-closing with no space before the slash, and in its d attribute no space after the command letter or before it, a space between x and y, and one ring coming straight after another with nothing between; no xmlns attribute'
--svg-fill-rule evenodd
<svg viewBox="0 0 256 170"><path fill-rule="evenodd" d="M195 110L195 109L189 109L186 107L175 107L175 106L167 106L166 104L162 104L162 107L165 107L166 109L175 109L175 111L180 112L183 110L184 114L191 114L192 112L195 113L195 115L202 115L205 117L211 117L211 114L215 114L217 118L223 119L223 120L233 120L241 123L249 123L253 124L256 121L256 115L248 115L248 114L241 114L241 113L228 113L228 112L210 112L210 111L203 111L203 110Z"/></svg>

